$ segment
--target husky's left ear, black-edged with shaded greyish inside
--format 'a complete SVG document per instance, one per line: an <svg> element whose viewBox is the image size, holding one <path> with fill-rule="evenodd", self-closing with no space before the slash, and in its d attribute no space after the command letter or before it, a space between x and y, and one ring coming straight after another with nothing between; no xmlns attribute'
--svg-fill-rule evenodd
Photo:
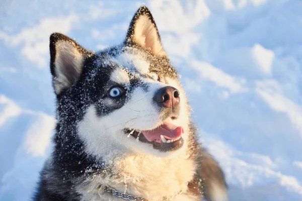
<svg viewBox="0 0 302 201"><path fill-rule="evenodd" d="M52 84L55 93L59 95L81 75L88 51L60 33L51 34L49 49Z"/></svg>

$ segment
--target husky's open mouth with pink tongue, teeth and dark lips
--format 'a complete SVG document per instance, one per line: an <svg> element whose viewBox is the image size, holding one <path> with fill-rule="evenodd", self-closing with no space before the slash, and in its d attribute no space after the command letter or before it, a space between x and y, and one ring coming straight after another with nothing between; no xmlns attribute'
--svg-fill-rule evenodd
<svg viewBox="0 0 302 201"><path fill-rule="evenodd" d="M161 152L175 151L184 144L184 140L181 137L184 133L183 128L170 122L164 123L152 130L137 131L134 129L125 129L124 133L128 137L132 136L140 142L153 144L153 148Z"/></svg>

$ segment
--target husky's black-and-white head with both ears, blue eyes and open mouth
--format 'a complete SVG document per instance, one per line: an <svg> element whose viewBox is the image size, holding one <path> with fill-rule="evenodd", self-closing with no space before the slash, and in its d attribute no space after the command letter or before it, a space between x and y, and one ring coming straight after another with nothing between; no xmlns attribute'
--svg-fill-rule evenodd
<svg viewBox="0 0 302 201"><path fill-rule="evenodd" d="M58 121L76 126L89 153L186 149L187 100L147 8L137 11L120 46L93 53L52 34L50 52Z"/></svg>

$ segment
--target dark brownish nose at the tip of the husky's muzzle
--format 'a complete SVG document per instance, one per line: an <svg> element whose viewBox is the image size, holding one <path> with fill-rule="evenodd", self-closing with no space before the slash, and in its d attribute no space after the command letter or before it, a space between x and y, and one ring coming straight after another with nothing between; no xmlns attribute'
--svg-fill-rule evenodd
<svg viewBox="0 0 302 201"><path fill-rule="evenodd" d="M180 102L179 91L172 86L166 86L155 93L154 99L165 108L173 109Z"/></svg>

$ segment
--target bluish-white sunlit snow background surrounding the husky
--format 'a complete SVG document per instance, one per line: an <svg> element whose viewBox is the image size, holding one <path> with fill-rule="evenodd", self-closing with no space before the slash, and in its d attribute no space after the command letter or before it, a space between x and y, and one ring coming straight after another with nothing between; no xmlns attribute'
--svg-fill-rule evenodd
<svg viewBox="0 0 302 201"><path fill-rule="evenodd" d="M302 2L145 2L230 200L302 200ZM136 1L0 3L0 200L29 200L55 124L52 32L120 43Z"/></svg>

